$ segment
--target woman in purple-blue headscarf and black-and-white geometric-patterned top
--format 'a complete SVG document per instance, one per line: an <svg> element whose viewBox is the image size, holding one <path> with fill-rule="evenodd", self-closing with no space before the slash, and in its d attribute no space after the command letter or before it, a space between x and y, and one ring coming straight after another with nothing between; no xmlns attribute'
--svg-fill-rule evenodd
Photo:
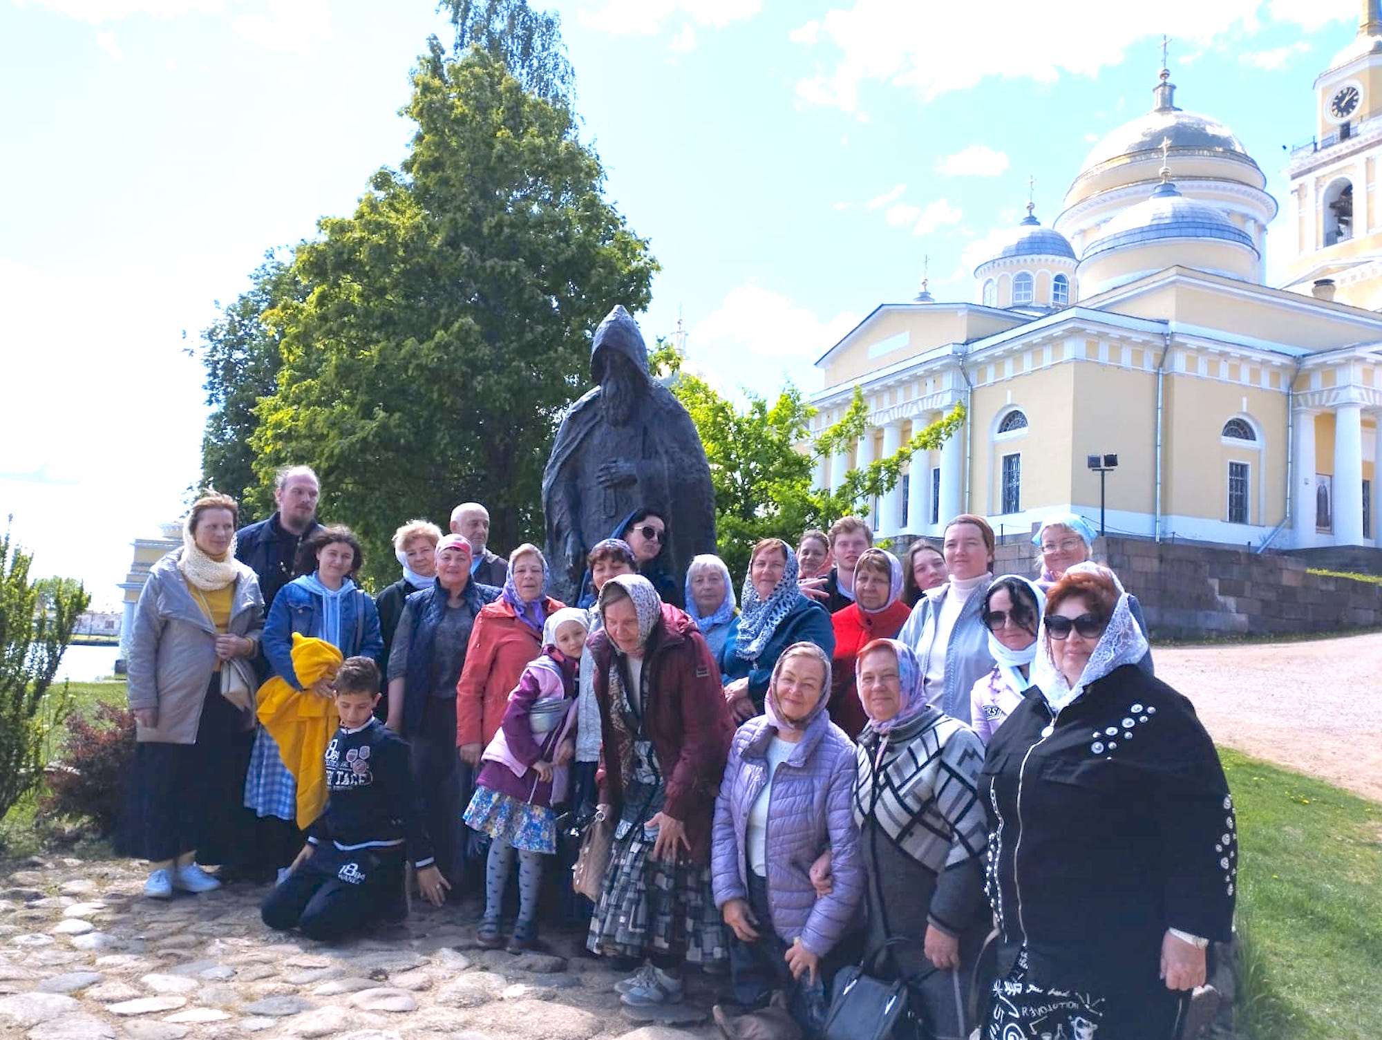
<svg viewBox="0 0 1382 1040"><path fill-rule="evenodd" d="M869 956L889 939L923 1036L967 1037L969 978L988 932L978 801L984 745L929 705L911 647L875 639L855 662L868 726L858 739L854 821L868 873Z"/></svg>

